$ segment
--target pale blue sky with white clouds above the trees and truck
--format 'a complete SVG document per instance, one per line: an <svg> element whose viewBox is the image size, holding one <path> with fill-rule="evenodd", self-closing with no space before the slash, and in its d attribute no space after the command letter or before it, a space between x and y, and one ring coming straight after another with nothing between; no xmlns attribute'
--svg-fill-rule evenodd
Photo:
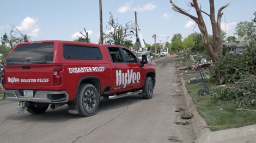
<svg viewBox="0 0 256 143"><path fill-rule="evenodd" d="M174 3L185 10L190 9L188 0L174 0ZM209 1L198 0L204 11L209 11ZM255 0L215 0L216 11L222 5L232 2L223 10L225 16L227 36L234 34L236 23L251 21L256 11ZM0 35L9 32L10 24L14 24L23 34L31 35L32 41L38 40L68 40L76 38L79 31L86 28L92 43L99 40L99 1L98 0L0 0ZM194 22L172 10L168 0L102 0L103 31L106 31L109 12L119 23L135 21L134 12L137 11L137 21L145 42L153 44L153 34L168 35L180 33L183 37L194 31L199 31ZM224 16L222 22L224 23ZM204 17L211 33L209 18ZM223 24L224 25L224 24ZM224 30L224 26L223 26ZM133 36L132 40L135 40ZM163 42L166 37L157 37L157 42Z"/></svg>

